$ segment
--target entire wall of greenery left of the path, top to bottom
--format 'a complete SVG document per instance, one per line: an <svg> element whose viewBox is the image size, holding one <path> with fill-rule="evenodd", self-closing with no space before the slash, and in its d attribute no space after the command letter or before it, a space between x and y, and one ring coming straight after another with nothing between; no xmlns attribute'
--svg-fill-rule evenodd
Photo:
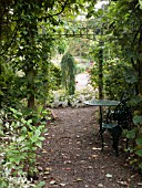
<svg viewBox="0 0 142 188"><path fill-rule="evenodd" d="M1 187L33 187L28 176L37 174L36 150L42 146L49 91L60 87L60 69L51 64L57 30L62 18L74 18L90 0L1 0L0 1L0 129ZM63 48L58 49L63 53ZM10 112L9 112L10 107ZM28 107L28 109L27 109ZM24 111L27 112L24 114ZM11 113L12 112L12 113ZM10 121L10 122L9 122ZM21 155L22 154L22 155ZM9 171L9 173L8 173ZM24 173L26 178L24 178ZM13 176L16 176L13 178ZM20 179L21 178L21 179ZM26 184L27 182L27 184ZM40 184L38 187L42 187Z"/></svg>

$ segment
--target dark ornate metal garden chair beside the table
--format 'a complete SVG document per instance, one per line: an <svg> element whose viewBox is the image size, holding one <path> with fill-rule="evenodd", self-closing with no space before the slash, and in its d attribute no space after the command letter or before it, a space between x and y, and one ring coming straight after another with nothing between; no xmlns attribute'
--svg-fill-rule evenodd
<svg viewBox="0 0 142 188"><path fill-rule="evenodd" d="M112 136L112 147L115 150L115 156L119 156L119 140L123 129L131 129L132 113L128 105L128 100L123 100L114 108L109 111L105 121L102 123L102 137L104 130L108 130ZM126 142L128 147L128 142ZM103 149L103 148L102 148Z"/></svg>

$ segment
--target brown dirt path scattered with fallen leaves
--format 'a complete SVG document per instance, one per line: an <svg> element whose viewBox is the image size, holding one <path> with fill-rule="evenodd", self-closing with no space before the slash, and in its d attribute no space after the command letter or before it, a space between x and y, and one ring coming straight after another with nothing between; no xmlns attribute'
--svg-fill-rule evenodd
<svg viewBox="0 0 142 188"><path fill-rule="evenodd" d="M39 150L40 176L45 188L139 188L139 176L132 175L125 164L125 154L120 148L115 157L109 135L106 146L100 150L95 140L95 107L54 108L57 118L49 126L43 150ZM121 140L121 147L123 140ZM133 187L131 187L133 186Z"/></svg>

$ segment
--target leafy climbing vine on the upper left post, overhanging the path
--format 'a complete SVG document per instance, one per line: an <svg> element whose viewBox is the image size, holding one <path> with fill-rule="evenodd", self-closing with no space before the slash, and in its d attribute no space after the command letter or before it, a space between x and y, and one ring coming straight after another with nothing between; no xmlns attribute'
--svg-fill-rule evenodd
<svg viewBox="0 0 142 188"><path fill-rule="evenodd" d="M27 97L28 107L34 108L38 96L36 80L39 72L42 71L44 75L47 71L48 74L51 54L54 51L55 32L58 27L63 24L62 18L73 19L80 10L84 10L85 7L91 8L92 2L94 1L11 0L0 2L0 53L3 55L1 62L7 61L14 72L20 70L24 73L23 81L27 90L24 97ZM63 45L59 51L63 52Z"/></svg>

